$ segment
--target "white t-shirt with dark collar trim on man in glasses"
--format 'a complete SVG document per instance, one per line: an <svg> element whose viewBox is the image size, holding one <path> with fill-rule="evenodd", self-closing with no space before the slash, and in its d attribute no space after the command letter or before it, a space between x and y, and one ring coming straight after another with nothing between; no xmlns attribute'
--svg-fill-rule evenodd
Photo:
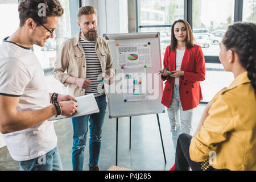
<svg viewBox="0 0 256 182"><path fill-rule="evenodd" d="M0 94L19 97L17 111L33 111L50 105L43 68L30 48L3 40L0 46ZM14 160L37 158L57 146L53 123L3 134Z"/></svg>

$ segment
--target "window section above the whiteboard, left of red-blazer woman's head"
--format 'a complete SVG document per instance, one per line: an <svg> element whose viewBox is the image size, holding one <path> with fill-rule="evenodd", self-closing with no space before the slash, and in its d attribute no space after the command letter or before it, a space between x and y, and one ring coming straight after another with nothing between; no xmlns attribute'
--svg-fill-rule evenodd
<svg viewBox="0 0 256 182"><path fill-rule="evenodd" d="M184 19L184 1L138 0L139 32L160 32L162 60L171 43L171 24Z"/></svg>

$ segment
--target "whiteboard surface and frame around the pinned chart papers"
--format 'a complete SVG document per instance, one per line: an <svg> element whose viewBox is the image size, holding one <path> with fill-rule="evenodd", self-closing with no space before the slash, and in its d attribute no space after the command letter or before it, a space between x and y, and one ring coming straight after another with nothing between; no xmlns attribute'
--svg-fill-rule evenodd
<svg viewBox="0 0 256 182"><path fill-rule="evenodd" d="M122 79L115 77L115 83L110 85L108 90L108 113L109 118L129 117L135 115L159 114L165 112L164 105L161 104L163 96L163 81L158 75L159 69L162 69L160 54L159 32L130 33L130 34L105 34L105 39L109 43L110 52L113 57L114 68L118 73L123 73L117 60L117 45L150 43L151 67L146 67L146 72L151 73L151 79L147 79L147 85L151 86L151 93L148 93L150 100L125 102L123 93L111 92L113 86L119 88L122 85ZM112 86L112 88L111 88ZM155 88L154 88L155 87Z"/></svg>

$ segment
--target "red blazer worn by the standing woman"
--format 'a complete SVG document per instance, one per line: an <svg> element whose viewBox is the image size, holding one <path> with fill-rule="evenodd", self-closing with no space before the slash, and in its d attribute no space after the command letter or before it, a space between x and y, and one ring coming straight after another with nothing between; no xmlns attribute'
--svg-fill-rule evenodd
<svg viewBox="0 0 256 182"><path fill-rule="evenodd" d="M168 67L168 71L175 71L176 48L174 52L170 51L170 46L166 48L166 53L164 54L164 68L166 67ZM184 71L184 76L180 77L179 84L181 106L183 110L193 109L199 105L199 101L203 100L199 81L204 81L205 79L205 62L204 54L200 46L195 44L191 49L185 49L180 70ZM164 87L161 103L169 107L175 78L168 75L166 78L162 76L162 79L167 81L165 82L166 86Z"/></svg>

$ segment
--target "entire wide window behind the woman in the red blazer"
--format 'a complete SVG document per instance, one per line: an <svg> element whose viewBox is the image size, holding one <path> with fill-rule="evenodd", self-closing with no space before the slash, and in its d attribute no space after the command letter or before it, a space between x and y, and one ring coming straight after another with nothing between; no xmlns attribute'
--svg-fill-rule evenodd
<svg viewBox="0 0 256 182"><path fill-rule="evenodd" d="M233 74L226 72L218 61L219 44L228 26L234 22L242 20L256 23L256 0L187 0L185 1L187 18L184 18L184 1L138 0L138 2L139 14L142 13L142 8L148 12L157 11L162 16L164 14L164 23L151 19L149 15L138 17L139 31L160 32L162 59L166 47L171 42L168 33L171 31L171 26L167 25L171 25L177 19L187 19L192 23L195 43L202 47L206 63L205 81L201 82L203 101L210 101L219 90L231 84L234 79ZM165 26L160 27L160 24Z"/></svg>

